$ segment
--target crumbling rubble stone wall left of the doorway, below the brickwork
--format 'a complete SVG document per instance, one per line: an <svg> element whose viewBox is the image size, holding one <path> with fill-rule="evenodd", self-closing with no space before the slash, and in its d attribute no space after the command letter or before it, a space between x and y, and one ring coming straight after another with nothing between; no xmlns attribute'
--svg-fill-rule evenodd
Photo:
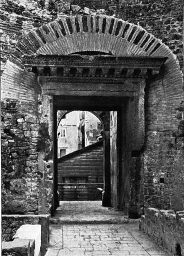
<svg viewBox="0 0 184 256"><path fill-rule="evenodd" d="M2 213L37 214L38 119L19 108L18 100L1 104Z"/></svg>

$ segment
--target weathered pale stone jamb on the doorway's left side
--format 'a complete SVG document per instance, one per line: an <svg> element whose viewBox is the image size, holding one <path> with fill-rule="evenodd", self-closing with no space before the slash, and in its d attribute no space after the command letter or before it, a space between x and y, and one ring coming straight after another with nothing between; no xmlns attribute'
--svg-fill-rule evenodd
<svg viewBox="0 0 184 256"><path fill-rule="evenodd" d="M40 189L38 200L38 213L49 213L55 207L53 184L54 184L54 164L53 164L53 99L52 96L43 94L41 100L41 113L39 117L39 141L38 141L38 172L40 172Z"/></svg>

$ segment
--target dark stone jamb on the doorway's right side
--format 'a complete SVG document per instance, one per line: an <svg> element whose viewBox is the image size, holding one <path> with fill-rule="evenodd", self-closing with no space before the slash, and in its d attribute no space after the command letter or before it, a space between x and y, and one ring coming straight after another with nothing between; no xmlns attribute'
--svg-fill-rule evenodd
<svg viewBox="0 0 184 256"><path fill-rule="evenodd" d="M118 146L119 208L131 217L141 214L143 204L141 148L145 140L144 88L145 80L138 81L135 96L129 97L122 108L117 137L121 142Z"/></svg>

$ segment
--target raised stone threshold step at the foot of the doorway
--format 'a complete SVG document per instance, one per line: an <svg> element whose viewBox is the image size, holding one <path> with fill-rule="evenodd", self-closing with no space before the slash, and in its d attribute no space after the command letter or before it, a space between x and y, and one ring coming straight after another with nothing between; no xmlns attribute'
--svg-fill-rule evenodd
<svg viewBox="0 0 184 256"><path fill-rule="evenodd" d="M121 210L102 206L102 201L60 201L53 224L77 223L127 223L129 219L123 216Z"/></svg>

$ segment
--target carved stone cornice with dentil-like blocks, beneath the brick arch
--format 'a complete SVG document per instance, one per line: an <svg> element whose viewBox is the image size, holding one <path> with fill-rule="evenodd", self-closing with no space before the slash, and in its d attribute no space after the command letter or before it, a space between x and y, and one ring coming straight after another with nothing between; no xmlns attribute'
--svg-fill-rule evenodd
<svg viewBox="0 0 184 256"><path fill-rule="evenodd" d="M160 67L166 59L167 57L80 54L24 55L23 63L28 71L39 76L71 77L71 79L73 77L75 79L76 77L86 77L86 79L87 77L105 77L112 80L112 78L146 77L148 74L159 74ZM101 69L100 73L99 69Z"/></svg>

